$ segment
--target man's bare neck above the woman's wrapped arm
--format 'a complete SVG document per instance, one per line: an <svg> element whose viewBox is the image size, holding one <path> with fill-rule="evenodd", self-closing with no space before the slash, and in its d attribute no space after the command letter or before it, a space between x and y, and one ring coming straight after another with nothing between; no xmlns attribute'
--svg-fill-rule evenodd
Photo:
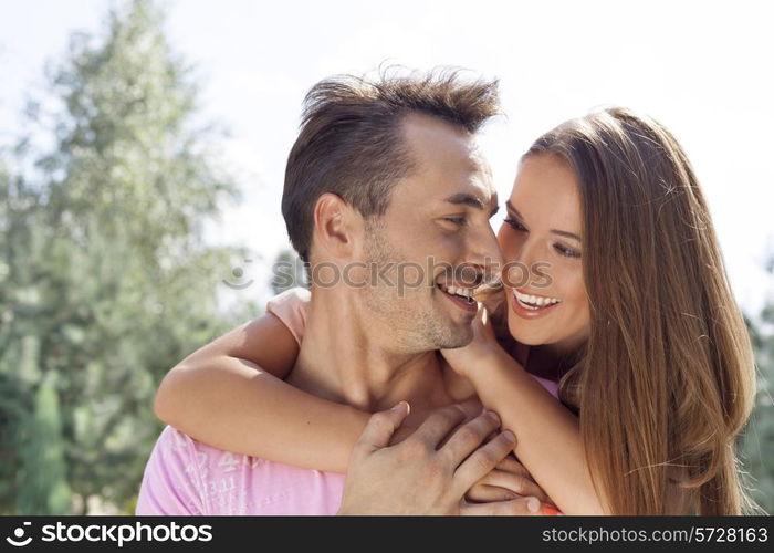
<svg viewBox="0 0 774 553"><path fill-rule="evenodd" d="M400 337L347 291L313 292L301 352L287 382L367 411L400 400L412 415L451 403L436 351L401 351Z"/></svg>

